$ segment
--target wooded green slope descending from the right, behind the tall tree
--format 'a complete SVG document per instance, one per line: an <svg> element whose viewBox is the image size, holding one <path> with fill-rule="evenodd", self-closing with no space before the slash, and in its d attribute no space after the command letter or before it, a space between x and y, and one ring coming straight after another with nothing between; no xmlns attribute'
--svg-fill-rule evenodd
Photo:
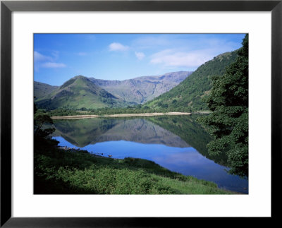
<svg viewBox="0 0 282 228"><path fill-rule="evenodd" d="M178 112L208 109L202 98L208 95L212 88L212 76L223 75L226 66L235 61L237 56L238 50L214 57L175 88L145 103L143 107Z"/></svg>

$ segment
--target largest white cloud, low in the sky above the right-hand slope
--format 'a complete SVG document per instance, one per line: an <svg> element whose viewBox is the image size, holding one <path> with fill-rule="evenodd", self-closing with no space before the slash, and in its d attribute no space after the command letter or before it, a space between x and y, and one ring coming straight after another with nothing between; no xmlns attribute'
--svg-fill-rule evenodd
<svg viewBox="0 0 282 228"><path fill-rule="evenodd" d="M180 52L176 49L166 49L151 56L152 64L164 66L197 67L214 57L209 50Z"/></svg>

